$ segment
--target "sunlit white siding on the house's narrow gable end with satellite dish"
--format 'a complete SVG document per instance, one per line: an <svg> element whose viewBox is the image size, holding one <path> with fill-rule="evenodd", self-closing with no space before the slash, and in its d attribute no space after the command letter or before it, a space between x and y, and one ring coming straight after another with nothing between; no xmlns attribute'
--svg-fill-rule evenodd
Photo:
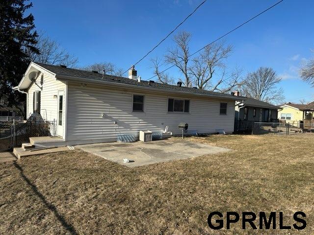
<svg viewBox="0 0 314 235"><path fill-rule="evenodd" d="M41 91L40 94L40 115L43 119L48 121L57 120L58 115L58 107L57 102L58 99L53 97L53 95L57 95L59 90L66 89L65 83L61 81L57 81L54 77L49 73L44 73L43 78L43 89L41 90L40 84L41 74L36 79L35 83L32 83L28 88L28 100L27 100L27 118L33 113L33 93L36 91ZM64 97L65 98L65 97Z"/></svg>

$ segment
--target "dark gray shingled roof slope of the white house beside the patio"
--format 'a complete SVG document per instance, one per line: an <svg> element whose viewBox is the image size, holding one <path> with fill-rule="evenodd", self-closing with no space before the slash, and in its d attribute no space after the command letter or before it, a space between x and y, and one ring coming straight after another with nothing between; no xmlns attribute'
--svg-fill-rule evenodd
<svg viewBox="0 0 314 235"><path fill-rule="evenodd" d="M70 69L70 68L62 68L60 66L55 65L48 65L48 64L42 64L42 63L36 63L37 65L45 68L48 71L51 71L55 73L56 75L64 75L64 76L70 76L70 77L78 77L78 78L86 78L91 80L97 80L97 81L106 81L106 82L112 82L112 83L121 83L121 84L127 84L127 85L135 85L137 87L145 87L145 88L155 88L160 89L163 91L169 91L170 93L173 92L187 92L190 94L196 94L196 95L208 95L208 96L217 96L217 98L231 98L236 99L237 97L231 94L222 94L218 92L211 92L207 90L200 90L196 88L188 88L188 87L179 87L175 85L168 85L168 84L162 84L162 83L151 83L149 85L148 81L141 81L138 82L137 80L132 80L127 77L118 77L113 75L107 75L105 74L105 78L103 79L103 74L100 73L94 73L92 71L83 71L83 70L76 70L76 69Z"/></svg>

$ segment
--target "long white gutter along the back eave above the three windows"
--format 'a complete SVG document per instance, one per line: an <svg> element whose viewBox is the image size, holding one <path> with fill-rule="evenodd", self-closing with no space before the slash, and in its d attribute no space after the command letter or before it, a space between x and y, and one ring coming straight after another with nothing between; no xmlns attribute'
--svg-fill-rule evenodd
<svg viewBox="0 0 314 235"><path fill-rule="evenodd" d="M75 82L86 82L86 83L95 83L95 84L103 84L108 86L115 86L115 87L125 87L125 88L133 88L133 89L139 89L139 90L147 90L147 91L155 91L155 92L161 92L161 93L176 93L176 94L186 94L186 95L193 95L193 96L201 96L201 97L211 97L216 99L227 99L227 100L238 100L238 98L231 96L220 96L220 95L210 95L210 94L195 94L190 92L183 92L183 91L173 91L173 90L166 90L166 89L159 89L154 87L144 87L144 86L137 86L132 84L124 84L124 83L118 83L118 82L108 82L108 81L101 81L101 80L94 80L84 77L72 77L68 75L55 75L56 79L61 80L69 80L69 81L75 81ZM242 99L241 99L242 100Z"/></svg>

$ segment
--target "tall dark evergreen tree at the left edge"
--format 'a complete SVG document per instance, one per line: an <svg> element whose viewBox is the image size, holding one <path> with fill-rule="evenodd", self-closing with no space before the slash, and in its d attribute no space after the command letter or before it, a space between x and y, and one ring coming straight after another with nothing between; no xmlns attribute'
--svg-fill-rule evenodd
<svg viewBox="0 0 314 235"><path fill-rule="evenodd" d="M28 0L0 1L0 100L6 95L8 105L16 106L23 114L26 95L14 92L12 87L19 84L30 62L26 50L39 53L34 17L25 16L30 7Z"/></svg>

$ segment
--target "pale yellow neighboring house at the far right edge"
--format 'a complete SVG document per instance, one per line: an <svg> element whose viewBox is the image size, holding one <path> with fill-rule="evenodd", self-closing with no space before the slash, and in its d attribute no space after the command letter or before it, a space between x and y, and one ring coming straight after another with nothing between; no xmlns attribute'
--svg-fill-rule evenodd
<svg viewBox="0 0 314 235"><path fill-rule="evenodd" d="M314 102L309 104L286 103L279 105L278 118L290 123L299 123L304 119L313 119Z"/></svg>

